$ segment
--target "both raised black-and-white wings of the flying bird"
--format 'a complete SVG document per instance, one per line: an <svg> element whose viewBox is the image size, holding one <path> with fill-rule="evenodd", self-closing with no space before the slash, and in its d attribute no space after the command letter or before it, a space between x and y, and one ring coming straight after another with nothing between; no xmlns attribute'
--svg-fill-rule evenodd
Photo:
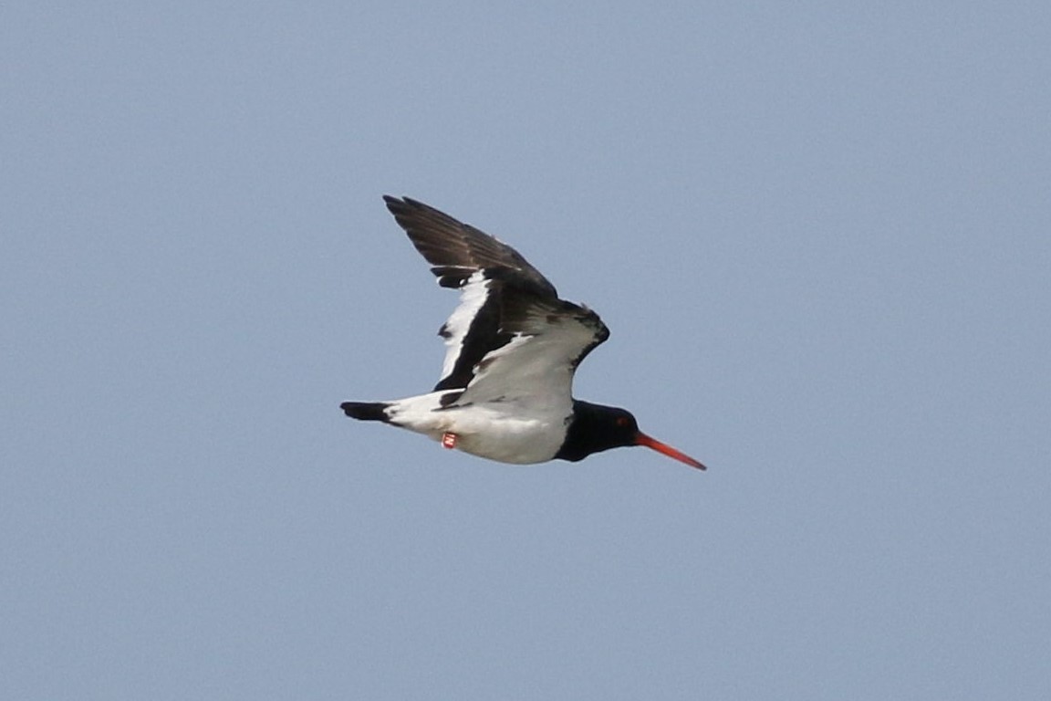
<svg viewBox="0 0 1051 701"><path fill-rule="evenodd" d="M473 386L476 373L479 382L489 377L483 385L498 379L522 391L527 376L559 363L569 368L569 391L576 365L609 335L598 315L559 300L540 271L488 233L409 198L384 200L438 284L460 290L459 306L438 331L447 350L435 391Z"/></svg>

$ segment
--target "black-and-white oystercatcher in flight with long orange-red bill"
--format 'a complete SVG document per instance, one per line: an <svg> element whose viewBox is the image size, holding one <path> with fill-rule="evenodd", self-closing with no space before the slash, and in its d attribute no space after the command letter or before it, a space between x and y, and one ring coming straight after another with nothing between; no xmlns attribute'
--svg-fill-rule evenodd
<svg viewBox="0 0 1051 701"><path fill-rule="evenodd" d="M586 306L495 236L408 197L387 209L459 304L438 330L441 378L426 394L344 401L347 416L421 433L447 449L512 465L578 461L644 446L698 470L705 466L639 430L634 415L573 397L580 363L610 336Z"/></svg>

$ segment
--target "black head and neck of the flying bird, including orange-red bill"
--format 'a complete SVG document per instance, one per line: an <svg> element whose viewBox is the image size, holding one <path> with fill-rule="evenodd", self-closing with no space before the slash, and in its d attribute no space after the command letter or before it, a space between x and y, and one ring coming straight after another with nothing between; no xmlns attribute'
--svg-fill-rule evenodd
<svg viewBox="0 0 1051 701"><path fill-rule="evenodd" d="M645 446L680 462L704 470L703 465L688 455L639 431L639 424L630 411L578 399L573 400L573 419L565 434L565 442L555 457L575 462L592 453L626 446Z"/></svg>

